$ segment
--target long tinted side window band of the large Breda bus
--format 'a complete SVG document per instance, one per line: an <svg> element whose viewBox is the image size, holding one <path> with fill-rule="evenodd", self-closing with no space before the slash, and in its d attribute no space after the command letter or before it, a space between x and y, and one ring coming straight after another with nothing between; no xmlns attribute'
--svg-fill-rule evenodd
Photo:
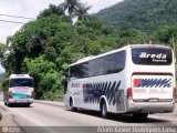
<svg viewBox="0 0 177 133"><path fill-rule="evenodd" d="M70 78L81 79L121 72L125 68L125 51L121 51L73 65Z"/></svg>

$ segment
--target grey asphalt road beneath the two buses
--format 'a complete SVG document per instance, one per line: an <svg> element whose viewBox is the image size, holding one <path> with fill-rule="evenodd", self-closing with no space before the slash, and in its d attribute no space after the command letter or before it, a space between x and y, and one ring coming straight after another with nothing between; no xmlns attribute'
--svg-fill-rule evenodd
<svg viewBox="0 0 177 133"><path fill-rule="evenodd" d="M52 102L51 102L52 103ZM30 108L12 106L8 108L0 102L0 133L6 131L22 133L97 133L97 132L119 132L112 127L131 127L127 132L133 132L142 126L155 126L160 132L165 132L170 126L177 126L177 105L174 113L149 114L145 121L136 121L132 115L111 115L110 119L102 119L95 111L71 112L64 108L63 103L45 104L45 102L34 102ZM106 127L106 129L105 129ZM158 129L160 127L160 129ZM167 129L177 132L176 129ZM146 131L146 130L145 130Z"/></svg>

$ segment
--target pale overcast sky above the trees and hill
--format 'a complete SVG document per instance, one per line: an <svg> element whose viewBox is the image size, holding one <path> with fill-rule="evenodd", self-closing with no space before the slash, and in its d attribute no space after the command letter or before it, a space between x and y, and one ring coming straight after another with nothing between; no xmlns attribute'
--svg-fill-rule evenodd
<svg viewBox="0 0 177 133"><path fill-rule="evenodd" d="M28 22L25 19L9 18L1 14L37 18L50 3L59 6L64 0L0 0L0 42L6 42L8 35L12 35L22 24L2 22L1 20ZM82 3L92 6L90 13L113 6L122 0L80 0ZM0 69L1 71L1 69Z"/></svg>

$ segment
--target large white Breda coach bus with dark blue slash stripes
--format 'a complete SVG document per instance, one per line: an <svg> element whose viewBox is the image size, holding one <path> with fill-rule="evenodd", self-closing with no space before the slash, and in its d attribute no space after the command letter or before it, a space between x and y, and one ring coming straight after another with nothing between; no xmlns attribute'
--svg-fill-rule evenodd
<svg viewBox="0 0 177 133"><path fill-rule="evenodd" d="M64 104L146 119L175 108L175 60L165 45L132 44L81 59L65 72Z"/></svg>

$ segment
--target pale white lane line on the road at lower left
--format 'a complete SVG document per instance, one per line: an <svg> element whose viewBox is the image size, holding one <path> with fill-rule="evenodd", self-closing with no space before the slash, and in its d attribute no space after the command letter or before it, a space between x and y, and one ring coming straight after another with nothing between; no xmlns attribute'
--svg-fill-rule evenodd
<svg viewBox="0 0 177 133"><path fill-rule="evenodd" d="M10 109L10 110L13 111L15 114L21 115L22 117L31 121L32 123L35 124L35 126L37 125L44 126L44 124L40 123L39 121L35 121L34 119L32 119L30 116L27 116L27 115L22 114L21 112L18 112L15 109Z"/></svg>

